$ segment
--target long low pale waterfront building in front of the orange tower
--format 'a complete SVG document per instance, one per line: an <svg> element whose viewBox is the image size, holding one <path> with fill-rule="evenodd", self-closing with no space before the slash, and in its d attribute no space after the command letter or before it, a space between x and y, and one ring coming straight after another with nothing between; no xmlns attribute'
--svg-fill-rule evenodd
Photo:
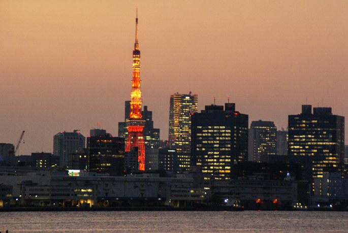
<svg viewBox="0 0 348 233"><path fill-rule="evenodd" d="M204 192L193 188L191 175L3 172L0 179L12 185L17 204L27 206L187 206L205 199Z"/></svg>

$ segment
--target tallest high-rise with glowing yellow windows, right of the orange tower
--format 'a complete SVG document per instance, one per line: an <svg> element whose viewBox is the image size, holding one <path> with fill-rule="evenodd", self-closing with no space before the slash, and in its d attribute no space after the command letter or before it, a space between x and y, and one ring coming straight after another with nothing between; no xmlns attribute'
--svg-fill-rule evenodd
<svg viewBox="0 0 348 233"><path fill-rule="evenodd" d="M170 95L169 143L178 153L189 153L191 144L191 116L198 112L197 94Z"/></svg>

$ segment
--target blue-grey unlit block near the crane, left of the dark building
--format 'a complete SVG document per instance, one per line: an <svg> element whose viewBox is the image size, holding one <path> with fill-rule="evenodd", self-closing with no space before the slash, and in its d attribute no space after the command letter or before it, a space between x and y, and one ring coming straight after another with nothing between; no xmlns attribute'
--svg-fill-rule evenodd
<svg viewBox="0 0 348 233"><path fill-rule="evenodd" d="M80 148L86 147L86 138L74 130L74 132L58 132L53 137L53 155L59 157L59 167L68 168L69 154L77 153Z"/></svg>

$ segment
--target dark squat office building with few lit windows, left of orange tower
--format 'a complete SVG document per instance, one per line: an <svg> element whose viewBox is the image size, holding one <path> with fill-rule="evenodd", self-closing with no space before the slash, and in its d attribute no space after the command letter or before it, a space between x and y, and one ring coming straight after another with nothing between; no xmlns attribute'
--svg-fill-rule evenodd
<svg viewBox="0 0 348 233"><path fill-rule="evenodd" d="M124 138L112 137L105 129L91 129L87 152L89 172L124 175Z"/></svg>

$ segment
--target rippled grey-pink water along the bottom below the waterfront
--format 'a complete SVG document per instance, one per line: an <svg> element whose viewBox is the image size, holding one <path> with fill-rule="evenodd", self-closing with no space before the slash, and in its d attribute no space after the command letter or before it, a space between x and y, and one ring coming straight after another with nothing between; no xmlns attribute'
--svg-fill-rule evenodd
<svg viewBox="0 0 348 233"><path fill-rule="evenodd" d="M348 212L0 212L14 232L347 232Z"/></svg>

